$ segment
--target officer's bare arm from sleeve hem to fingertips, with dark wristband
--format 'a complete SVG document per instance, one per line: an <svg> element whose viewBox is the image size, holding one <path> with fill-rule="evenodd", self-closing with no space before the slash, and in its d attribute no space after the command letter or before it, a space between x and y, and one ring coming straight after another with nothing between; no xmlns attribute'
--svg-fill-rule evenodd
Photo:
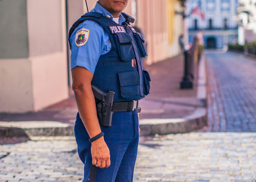
<svg viewBox="0 0 256 182"><path fill-rule="evenodd" d="M73 68L71 74L73 80L72 89L75 93L79 115L82 118L90 138L92 138L101 133L97 118L95 99L91 89L93 74L86 68L79 66ZM101 168L109 167L109 148L103 137L91 143L91 154L93 165Z"/></svg>

